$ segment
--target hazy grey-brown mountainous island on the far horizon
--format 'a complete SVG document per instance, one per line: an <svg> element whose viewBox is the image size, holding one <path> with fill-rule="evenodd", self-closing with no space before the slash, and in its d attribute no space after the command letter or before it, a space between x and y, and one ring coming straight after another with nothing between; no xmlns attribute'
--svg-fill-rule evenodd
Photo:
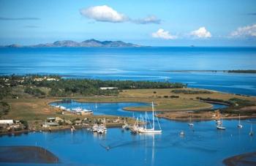
<svg viewBox="0 0 256 166"><path fill-rule="evenodd" d="M39 45L6 45L7 48L134 48L142 47L141 45L135 45L132 43L122 41L99 41L97 39L87 39L83 42L75 42L72 40L62 40L53 43L45 43Z"/></svg>

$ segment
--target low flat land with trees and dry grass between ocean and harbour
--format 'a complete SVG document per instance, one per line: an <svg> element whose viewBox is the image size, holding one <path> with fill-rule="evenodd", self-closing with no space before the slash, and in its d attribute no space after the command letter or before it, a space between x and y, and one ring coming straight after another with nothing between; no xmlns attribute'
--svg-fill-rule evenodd
<svg viewBox="0 0 256 166"><path fill-rule="evenodd" d="M134 124L134 118L78 114L50 103L144 102L155 103L159 118L176 121L256 117L256 97L225 94L184 83L64 79L60 75L4 75L0 77L0 116L15 127L1 127L1 134L91 127L106 120L107 127ZM212 103L226 105L212 109ZM124 107L127 111L151 111L150 105ZM58 124L45 127L45 121Z"/></svg>

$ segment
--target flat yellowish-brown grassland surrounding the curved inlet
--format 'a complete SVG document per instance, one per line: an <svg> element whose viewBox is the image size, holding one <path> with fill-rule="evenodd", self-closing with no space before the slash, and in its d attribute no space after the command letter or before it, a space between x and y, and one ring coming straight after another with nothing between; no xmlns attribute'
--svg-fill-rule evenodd
<svg viewBox="0 0 256 166"><path fill-rule="evenodd" d="M199 89L186 88L189 91L200 91ZM206 102L200 102L197 97L211 99L229 100L232 98L246 99L255 103L256 97L246 97L236 94L222 94L211 91L211 94L176 94L172 92L173 89L137 89L120 91L118 97L73 97L79 102L146 102L150 104L152 101L156 104L156 110L166 111L167 113L184 111L184 110L204 110L210 108L212 105ZM18 91L18 90L17 90ZM206 91L206 90L203 90ZM178 98L171 98L176 96ZM61 115L56 112L56 108L48 105L49 102L54 102L64 98L44 98L35 99L29 95L23 96L22 99L3 99L10 105L10 112L1 118L12 118L15 120L26 120L30 123L42 121L48 117L59 116L65 119L85 118L86 116L78 116L72 113L65 113ZM250 107L250 109L255 107ZM148 110L151 111L151 106L148 107L125 107L125 110ZM243 108L244 109L244 108ZM170 115L168 115L170 116ZM116 116L91 116L90 118L116 118Z"/></svg>

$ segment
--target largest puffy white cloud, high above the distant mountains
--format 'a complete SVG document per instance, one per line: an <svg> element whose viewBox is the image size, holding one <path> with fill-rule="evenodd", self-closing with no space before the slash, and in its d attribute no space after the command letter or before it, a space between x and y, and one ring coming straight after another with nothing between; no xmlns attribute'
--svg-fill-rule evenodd
<svg viewBox="0 0 256 166"><path fill-rule="evenodd" d="M129 19L107 5L84 8L80 10L80 14L86 18L111 23L120 23Z"/></svg>

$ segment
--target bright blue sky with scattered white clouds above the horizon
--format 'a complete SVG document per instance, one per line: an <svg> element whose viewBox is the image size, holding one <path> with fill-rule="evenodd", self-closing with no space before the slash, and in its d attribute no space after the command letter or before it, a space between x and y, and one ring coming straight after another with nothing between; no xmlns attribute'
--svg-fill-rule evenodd
<svg viewBox="0 0 256 166"><path fill-rule="evenodd" d="M255 0L0 0L0 45L256 46Z"/></svg>

